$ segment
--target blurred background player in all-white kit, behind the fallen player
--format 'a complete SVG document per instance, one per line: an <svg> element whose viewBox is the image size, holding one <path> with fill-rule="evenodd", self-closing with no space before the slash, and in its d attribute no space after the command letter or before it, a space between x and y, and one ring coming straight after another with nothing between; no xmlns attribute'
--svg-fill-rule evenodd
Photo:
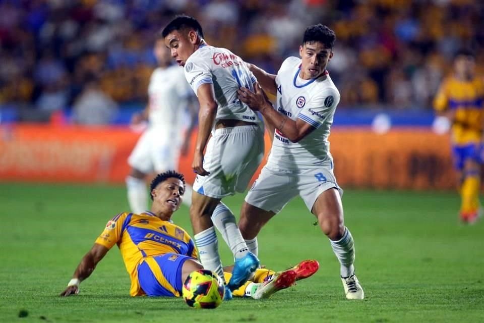
<svg viewBox="0 0 484 323"><path fill-rule="evenodd" d="M149 122L128 158L131 171L126 178L126 186L128 201L134 213L148 209L146 177L154 172L178 169L180 154L187 153L197 118L192 90L185 81L183 70L178 66L170 66L170 51L166 49L161 33L157 35L153 51L158 68L151 74L149 103L132 120L133 125ZM189 125L187 109L192 117ZM190 205L192 188L186 188L184 203Z"/></svg>

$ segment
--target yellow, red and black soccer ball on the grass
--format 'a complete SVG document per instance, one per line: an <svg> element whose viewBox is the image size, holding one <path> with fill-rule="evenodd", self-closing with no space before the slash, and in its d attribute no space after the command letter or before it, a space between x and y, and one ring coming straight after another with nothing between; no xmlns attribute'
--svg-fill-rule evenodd
<svg viewBox="0 0 484 323"><path fill-rule="evenodd" d="M222 303L224 293L220 277L204 269L192 272L182 289L183 299L194 308L215 308Z"/></svg>

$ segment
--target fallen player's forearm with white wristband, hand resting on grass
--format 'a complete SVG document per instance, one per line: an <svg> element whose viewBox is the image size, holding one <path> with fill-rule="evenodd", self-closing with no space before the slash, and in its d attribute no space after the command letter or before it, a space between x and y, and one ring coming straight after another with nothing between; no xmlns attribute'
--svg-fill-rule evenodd
<svg viewBox="0 0 484 323"><path fill-rule="evenodd" d="M79 283L92 274L98 262L101 261L108 251L109 249L105 246L95 243L91 250L82 258L66 290L60 296L79 294Z"/></svg>

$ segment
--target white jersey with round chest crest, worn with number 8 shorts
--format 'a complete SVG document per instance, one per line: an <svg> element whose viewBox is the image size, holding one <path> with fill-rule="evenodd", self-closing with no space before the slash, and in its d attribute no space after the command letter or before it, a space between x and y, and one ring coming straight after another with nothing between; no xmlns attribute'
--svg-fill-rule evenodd
<svg viewBox="0 0 484 323"><path fill-rule="evenodd" d="M289 57L282 63L276 77L275 109L316 129L297 143L276 130L267 166L289 171L321 165L332 168L328 137L340 95L327 72L317 79L301 79L300 64L301 60L296 57Z"/></svg>

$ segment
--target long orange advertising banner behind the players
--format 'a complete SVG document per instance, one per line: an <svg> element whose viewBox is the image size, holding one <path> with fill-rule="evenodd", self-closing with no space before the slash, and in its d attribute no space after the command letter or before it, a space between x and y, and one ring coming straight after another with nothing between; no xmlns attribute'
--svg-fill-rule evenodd
<svg viewBox="0 0 484 323"><path fill-rule="evenodd" d="M126 127L2 126L0 180L123 183L139 136ZM267 156L270 140L267 135L265 139ZM195 135L192 147L194 142ZM454 188L447 136L418 128L383 135L334 128L330 142L343 188ZM188 182L195 178L191 162L191 155L180 158L179 171Z"/></svg>

